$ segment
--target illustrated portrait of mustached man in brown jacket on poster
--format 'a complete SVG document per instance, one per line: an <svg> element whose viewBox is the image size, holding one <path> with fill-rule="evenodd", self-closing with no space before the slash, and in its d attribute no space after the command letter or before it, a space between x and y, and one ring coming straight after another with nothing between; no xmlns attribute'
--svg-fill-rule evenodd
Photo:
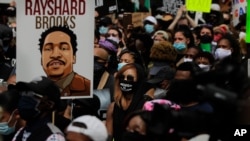
<svg viewBox="0 0 250 141"><path fill-rule="evenodd" d="M68 26L46 29L39 39L41 65L47 77L61 90L61 97L90 96L90 80L73 69L77 36Z"/></svg>

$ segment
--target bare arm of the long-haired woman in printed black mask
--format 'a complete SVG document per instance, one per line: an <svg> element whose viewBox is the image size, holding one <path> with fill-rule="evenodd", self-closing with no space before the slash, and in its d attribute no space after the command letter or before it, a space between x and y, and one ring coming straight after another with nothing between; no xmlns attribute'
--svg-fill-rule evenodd
<svg viewBox="0 0 250 141"><path fill-rule="evenodd" d="M113 140L113 110L115 102L112 102L107 111L106 128L108 130L108 141Z"/></svg>

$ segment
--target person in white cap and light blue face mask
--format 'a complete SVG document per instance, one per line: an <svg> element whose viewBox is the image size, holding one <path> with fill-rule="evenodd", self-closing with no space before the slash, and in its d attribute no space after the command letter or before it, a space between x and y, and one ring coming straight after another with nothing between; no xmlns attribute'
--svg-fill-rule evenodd
<svg viewBox="0 0 250 141"><path fill-rule="evenodd" d="M146 17L143 22L145 33L153 36L154 32L156 31L157 25L158 23L155 17L153 16Z"/></svg>

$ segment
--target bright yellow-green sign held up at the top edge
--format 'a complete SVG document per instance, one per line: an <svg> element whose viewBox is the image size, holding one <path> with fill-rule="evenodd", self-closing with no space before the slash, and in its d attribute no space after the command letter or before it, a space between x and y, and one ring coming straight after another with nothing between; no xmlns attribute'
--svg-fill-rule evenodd
<svg viewBox="0 0 250 141"><path fill-rule="evenodd" d="M186 0L188 11L198 11L209 13L211 10L212 0Z"/></svg>

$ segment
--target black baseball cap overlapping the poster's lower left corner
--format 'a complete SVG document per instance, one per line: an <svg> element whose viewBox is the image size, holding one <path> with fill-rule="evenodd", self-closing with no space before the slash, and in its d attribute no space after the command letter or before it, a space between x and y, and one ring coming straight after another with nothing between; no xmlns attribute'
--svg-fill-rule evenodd
<svg viewBox="0 0 250 141"><path fill-rule="evenodd" d="M59 110L61 108L60 89L52 80L45 76L35 77L30 82L19 81L16 85L8 88L15 88L18 91L33 91L42 96L47 96L48 100L55 103L55 109Z"/></svg>

